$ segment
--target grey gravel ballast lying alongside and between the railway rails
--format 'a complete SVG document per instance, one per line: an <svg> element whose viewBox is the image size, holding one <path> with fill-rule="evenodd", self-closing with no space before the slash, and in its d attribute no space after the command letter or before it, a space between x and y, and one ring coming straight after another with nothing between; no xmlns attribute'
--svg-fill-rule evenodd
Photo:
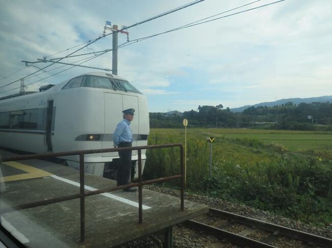
<svg viewBox="0 0 332 248"><path fill-rule="evenodd" d="M164 188L164 187L156 187L152 185L146 185L145 188L161 192L163 194L168 194L176 197L180 197L180 191L171 189L171 188ZM319 236L332 238L332 224L326 228L318 228L318 227L311 227L307 224L297 222L293 219L282 217L279 215L272 214L268 211L258 210L252 207L245 206L243 204L235 204L230 203L221 199L211 198L202 195L196 194L188 194L185 193L185 199L197 203L203 203L209 207L240 214L243 216L259 219L260 221L273 223L276 225L297 229L303 232L316 234ZM198 217L199 218L199 217ZM214 223L215 221L206 221L206 224L212 224L212 226L217 226L222 223ZM214 224L214 225L213 225ZM235 233L242 231L243 226L239 225L230 227L231 230L236 228ZM238 230L239 229L239 230ZM261 239L267 237L269 234L265 231L259 231L248 235L249 238L253 239ZM277 247L301 247L302 242L297 240L292 240L287 237L282 237L274 241L273 245ZM157 235L152 235L150 237L146 237L143 239L139 239L134 242L130 242L126 245L121 246L123 248L128 247L163 247L161 237ZM239 247L234 244L229 243L227 240L218 240L216 237L209 236L195 230L186 228L186 227L174 227L173 230L173 247L180 248L180 247L211 247L211 248L218 248L218 247L225 247L225 248L234 248Z"/></svg>

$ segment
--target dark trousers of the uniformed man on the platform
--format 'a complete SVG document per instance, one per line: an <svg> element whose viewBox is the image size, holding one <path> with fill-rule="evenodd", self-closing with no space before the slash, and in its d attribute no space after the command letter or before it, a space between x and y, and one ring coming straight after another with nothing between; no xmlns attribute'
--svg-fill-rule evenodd
<svg viewBox="0 0 332 248"><path fill-rule="evenodd" d="M131 142L120 142L118 147L131 147ZM117 167L117 186L130 183L131 176L131 151L119 151L120 156Z"/></svg>

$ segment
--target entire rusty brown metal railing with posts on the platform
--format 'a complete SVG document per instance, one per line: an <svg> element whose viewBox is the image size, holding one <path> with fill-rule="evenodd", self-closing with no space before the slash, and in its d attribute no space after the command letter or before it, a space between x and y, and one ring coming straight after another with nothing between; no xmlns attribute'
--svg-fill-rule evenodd
<svg viewBox="0 0 332 248"><path fill-rule="evenodd" d="M163 177L163 178L143 181L141 150L156 149L156 148L169 148L169 147L179 147L180 148L180 174L174 175L174 176L169 176L169 177ZM85 154L129 151L129 150L137 150L137 153L138 153L138 182L85 192L85 190L84 190L84 155ZM16 205L16 206L13 206L10 208L1 209L1 214L6 213L6 212L12 212L12 211L17 211L17 210L21 210L21 209L44 206L44 205L49 205L52 203L63 202L63 201L80 198L81 242L84 242L84 240L85 240L85 197L98 195L98 194L102 194L105 192L111 192L111 191L115 191L115 190L119 190L119 189L125 189L125 188L138 186L138 223L143 223L143 185L152 184L152 183L156 183L156 182L165 182L165 181L169 181L169 180L177 179L177 178L180 179L181 210L184 210L184 160L183 160L184 152L183 152L182 144L163 144L163 145L152 145L152 146L137 146L137 147L108 148L108 149L81 150L81 151L70 151L70 152L18 155L18 156L3 157L2 161L3 162L18 161L18 160L27 160L27 159L63 157L63 156L71 156L71 155L80 156L80 193L79 194Z"/></svg>

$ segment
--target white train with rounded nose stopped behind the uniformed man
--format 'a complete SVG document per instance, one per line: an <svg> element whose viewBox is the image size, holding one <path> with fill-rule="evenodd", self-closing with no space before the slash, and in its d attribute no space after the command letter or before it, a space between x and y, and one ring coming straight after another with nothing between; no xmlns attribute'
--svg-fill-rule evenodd
<svg viewBox="0 0 332 248"><path fill-rule="evenodd" d="M0 100L0 147L31 153L112 148L113 131L127 108L135 109L133 146L147 145L147 98L124 78L92 72L39 90ZM109 177L117 158L117 152L85 155L85 172ZM133 151L136 166L137 159ZM145 151L142 159L144 166ZM78 156L66 160L79 167Z"/></svg>

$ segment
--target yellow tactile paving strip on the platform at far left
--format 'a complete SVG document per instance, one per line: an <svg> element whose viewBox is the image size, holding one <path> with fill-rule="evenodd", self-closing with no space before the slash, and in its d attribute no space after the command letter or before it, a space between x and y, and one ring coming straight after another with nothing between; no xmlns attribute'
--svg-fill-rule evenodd
<svg viewBox="0 0 332 248"><path fill-rule="evenodd" d="M13 167L15 169L18 169L20 171L24 171L27 173L7 176L7 177L0 177L0 183L16 181L16 180L32 179L32 178L38 178L38 177L49 177L49 176L53 175L49 172L45 172L43 170L34 168L32 166L27 166L26 164L18 163L15 161L3 162L3 163L6 164L7 166Z"/></svg>

